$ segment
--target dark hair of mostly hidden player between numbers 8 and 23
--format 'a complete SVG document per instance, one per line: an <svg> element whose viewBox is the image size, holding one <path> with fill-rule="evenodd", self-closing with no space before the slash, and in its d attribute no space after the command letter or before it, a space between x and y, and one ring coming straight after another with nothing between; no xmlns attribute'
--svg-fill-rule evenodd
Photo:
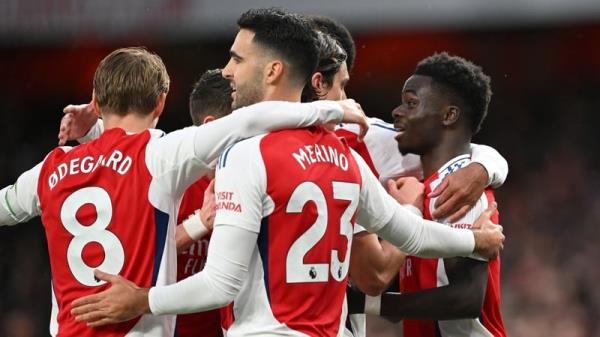
<svg viewBox="0 0 600 337"><path fill-rule="evenodd" d="M202 124L208 115L223 117L231 113L231 85L222 69L207 70L194 83L190 94L190 116L194 125Z"/></svg>

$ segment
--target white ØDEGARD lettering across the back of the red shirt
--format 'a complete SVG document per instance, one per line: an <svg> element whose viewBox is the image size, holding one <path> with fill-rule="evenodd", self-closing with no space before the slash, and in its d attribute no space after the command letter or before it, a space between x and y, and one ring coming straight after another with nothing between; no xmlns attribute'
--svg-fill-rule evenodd
<svg viewBox="0 0 600 337"><path fill-rule="evenodd" d="M48 186L52 190L67 175L92 173L100 166L111 168L120 175L125 175L131 168L132 163L133 159L130 156L123 156L123 153L119 150L114 150L107 157L99 155L98 157L85 156L83 158L73 158L69 162L62 163L56 167L56 170L48 177Z"/></svg>

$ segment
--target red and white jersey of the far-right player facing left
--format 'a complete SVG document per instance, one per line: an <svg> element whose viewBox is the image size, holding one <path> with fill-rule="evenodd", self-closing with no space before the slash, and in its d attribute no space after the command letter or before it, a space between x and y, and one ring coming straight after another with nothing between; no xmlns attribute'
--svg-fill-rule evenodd
<svg viewBox="0 0 600 337"><path fill-rule="evenodd" d="M425 195L435 189L446 175L466 166L470 161L469 155L462 155L446 163L425 181ZM431 214L435 210L435 200L436 198L425 199L424 217L426 219L433 220ZM493 191L488 188L462 219L455 223L448 223L445 220L440 222L455 228L470 228L479 215L493 202ZM498 223L498 214L492 217L492 221ZM478 256L472 256L472 258L481 259ZM409 256L402 266L400 279L400 289L403 293L448 285L444 259L423 259ZM488 262L487 289L479 318L446 321L405 319L403 325L405 337L505 337L506 332L500 311L500 258L496 257Z"/></svg>

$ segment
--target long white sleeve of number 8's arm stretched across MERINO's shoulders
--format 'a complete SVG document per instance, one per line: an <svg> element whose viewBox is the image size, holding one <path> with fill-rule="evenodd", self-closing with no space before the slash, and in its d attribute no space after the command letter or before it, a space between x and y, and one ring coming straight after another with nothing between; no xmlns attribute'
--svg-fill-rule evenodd
<svg viewBox="0 0 600 337"><path fill-rule="evenodd" d="M152 176L162 180L167 191L178 196L208 172L210 163L223 150L242 139L342 118L342 107L333 101L261 102L216 121L153 140L146 148L146 162Z"/></svg>

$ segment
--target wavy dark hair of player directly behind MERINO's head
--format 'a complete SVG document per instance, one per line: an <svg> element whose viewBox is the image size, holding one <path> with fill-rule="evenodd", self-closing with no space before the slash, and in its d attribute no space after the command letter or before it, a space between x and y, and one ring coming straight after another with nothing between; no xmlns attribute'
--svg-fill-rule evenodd
<svg viewBox="0 0 600 337"><path fill-rule="evenodd" d="M315 72L323 75L327 85L333 85L333 78L346 61L346 52L331 35L317 31L317 45L319 46L319 63ZM302 90L302 101L311 102L320 99L313 88L311 81L306 83Z"/></svg>

